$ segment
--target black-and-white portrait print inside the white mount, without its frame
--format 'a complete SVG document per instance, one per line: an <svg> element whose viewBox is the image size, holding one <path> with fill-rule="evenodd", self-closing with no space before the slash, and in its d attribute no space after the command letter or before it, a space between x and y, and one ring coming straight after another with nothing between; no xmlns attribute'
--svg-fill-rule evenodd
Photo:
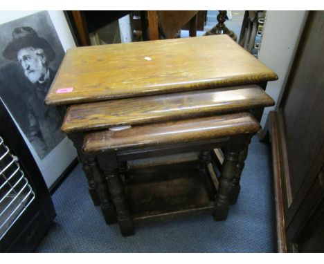
<svg viewBox="0 0 324 264"><path fill-rule="evenodd" d="M64 49L47 11L0 25L0 96L43 160L62 140L62 120L44 98Z"/></svg>

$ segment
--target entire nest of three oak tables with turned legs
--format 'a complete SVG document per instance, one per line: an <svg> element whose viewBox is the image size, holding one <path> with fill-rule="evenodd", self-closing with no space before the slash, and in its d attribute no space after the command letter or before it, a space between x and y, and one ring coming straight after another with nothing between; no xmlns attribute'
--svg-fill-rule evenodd
<svg viewBox="0 0 324 264"><path fill-rule="evenodd" d="M226 218L228 203L240 191L249 138L259 129L264 107L274 103L264 89L275 79L226 35L73 48L45 103L67 106L62 129L78 150L89 193L106 222L118 219L128 235L134 232L132 220L215 212L216 207L224 210L217 209L215 218ZM132 128L111 131L120 125ZM222 147L225 156L219 184L207 168L214 147ZM190 151L199 153L195 162L169 158L173 169L169 164L129 169L132 160ZM155 191L157 197L145 200L144 194L152 197ZM174 200L171 194L179 195ZM174 205L171 211L159 207L165 199ZM224 206L217 205L220 200Z"/></svg>

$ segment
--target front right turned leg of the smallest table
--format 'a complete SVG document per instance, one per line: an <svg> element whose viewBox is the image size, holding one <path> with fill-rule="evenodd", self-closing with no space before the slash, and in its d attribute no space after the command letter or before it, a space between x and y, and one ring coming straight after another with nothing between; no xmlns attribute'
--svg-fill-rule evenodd
<svg viewBox="0 0 324 264"><path fill-rule="evenodd" d="M240 152L243 150L243 148L244 144L240 142L231 142L224 151L224 163L222 164L221 168L219 188L215 201L215 220L225 220L227 218L232 182L236 175Z"/></svg>

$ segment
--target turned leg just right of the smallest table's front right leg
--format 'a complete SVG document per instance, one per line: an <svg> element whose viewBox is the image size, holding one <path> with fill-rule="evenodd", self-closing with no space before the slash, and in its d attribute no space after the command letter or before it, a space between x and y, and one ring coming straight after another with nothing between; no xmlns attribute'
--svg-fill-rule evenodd
<svg viewBox="0 0 324 264"><path fill-rule="evenodd" d="M240 189L241 189L240 180L241 180L242 171L244 169L244 161L246 160L246 157L247 157L250 142L251 142L251 139L246 140L246 145L245 145L243 151L241 151L238 156L235 176L232 181L232 188L231 188L231 192L230 192L231 205L234 205L237 202L237 198L240 194Z"/></svg>

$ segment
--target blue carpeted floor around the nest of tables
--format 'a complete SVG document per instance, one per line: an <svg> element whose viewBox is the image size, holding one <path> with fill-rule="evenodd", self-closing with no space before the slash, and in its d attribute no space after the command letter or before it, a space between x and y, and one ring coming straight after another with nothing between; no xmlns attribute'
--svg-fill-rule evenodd
<svg viewBox="0 0 324 264"><path fill-rule="evenodd" d="M93 206L79 164L52 196L57 216L36 252L276 252L271 152L256 137L241 185L226 221L197 216L137 226L123 237Z"/></svg>

